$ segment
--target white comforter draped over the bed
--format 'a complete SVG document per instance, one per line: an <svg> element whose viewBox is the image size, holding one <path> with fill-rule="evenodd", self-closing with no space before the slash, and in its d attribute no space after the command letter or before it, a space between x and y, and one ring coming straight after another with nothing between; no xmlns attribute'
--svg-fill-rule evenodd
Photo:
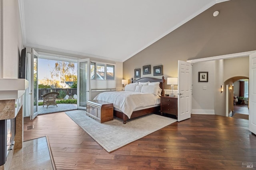
<svg viewBox="0 0 256 170"><path fill-rule="evenodd" d="M133 91L111 91L98 94L94 100L113 103L114 107L122 111L130 119L132 112L137 107L146 107L159 104L160 97L152 93Z"/></svg>

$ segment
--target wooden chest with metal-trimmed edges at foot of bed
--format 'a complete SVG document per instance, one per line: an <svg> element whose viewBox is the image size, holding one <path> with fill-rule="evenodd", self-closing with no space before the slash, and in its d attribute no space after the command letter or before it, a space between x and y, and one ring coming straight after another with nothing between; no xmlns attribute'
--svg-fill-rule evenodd
<svg viewBox="0 0 256 170"><path fill-rule="evenodd" d="M88 100L86 102L86 115L103 123L113 120L113 103L100 100Z"/></svg>

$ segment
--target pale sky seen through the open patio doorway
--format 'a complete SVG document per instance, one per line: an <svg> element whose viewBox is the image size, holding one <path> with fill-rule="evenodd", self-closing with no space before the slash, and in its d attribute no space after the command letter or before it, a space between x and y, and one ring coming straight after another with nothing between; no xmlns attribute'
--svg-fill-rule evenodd
<svg viewBox="0 0 256 170"><path fill-rule="evenodd" d="M45 77L51 78L50 71L55 67L56 60L50 59L38 59L38 80ZM77 69L77 63L75 63L75 69Z"/></svg>

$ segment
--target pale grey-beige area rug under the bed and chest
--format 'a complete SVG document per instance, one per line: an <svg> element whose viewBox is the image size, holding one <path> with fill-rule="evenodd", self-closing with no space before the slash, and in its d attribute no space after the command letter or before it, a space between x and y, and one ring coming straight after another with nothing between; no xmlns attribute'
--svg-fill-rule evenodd
<svg viewBox="0 0 256 170"><path fill-rule="evenodd" d="M177 121L176 119L150 114L127 121L126 124L115 117L113 121L98 123L88 117L86 111L83 110L65 113L108 152L121 148Z"/></svg>

